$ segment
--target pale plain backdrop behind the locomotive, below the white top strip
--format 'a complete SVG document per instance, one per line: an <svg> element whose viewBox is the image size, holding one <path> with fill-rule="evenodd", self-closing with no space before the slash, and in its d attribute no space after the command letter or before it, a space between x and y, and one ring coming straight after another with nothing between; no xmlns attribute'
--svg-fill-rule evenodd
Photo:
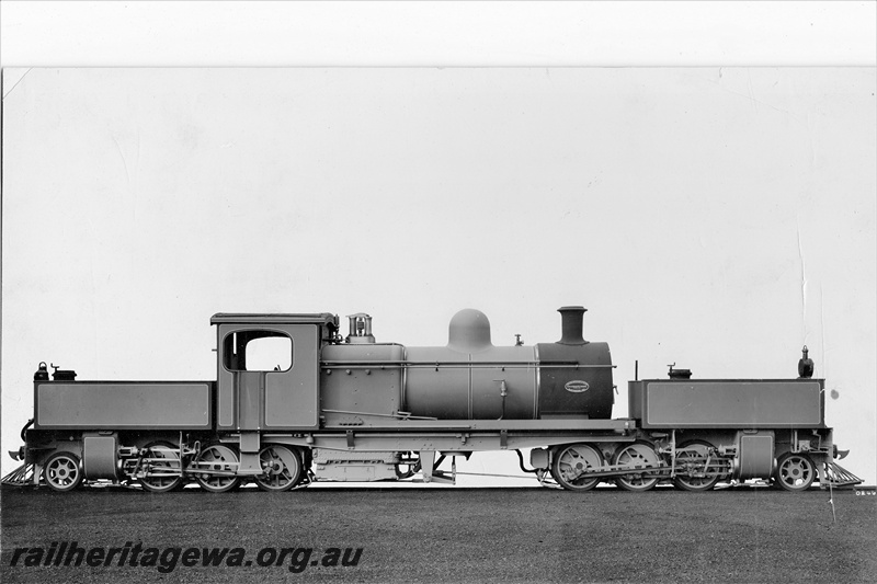
<svg viewBox="0 0 877 584"><path fill-rule="evenodd" d="M875 476L873 68L7 69L2 442L39 360L215 379L210 314L559 339L626 381L825 377ZM513 457L472 459L480 472ZM3 472L12 460L3 458ZM506 484L501 479L478 484Z"/></svg>

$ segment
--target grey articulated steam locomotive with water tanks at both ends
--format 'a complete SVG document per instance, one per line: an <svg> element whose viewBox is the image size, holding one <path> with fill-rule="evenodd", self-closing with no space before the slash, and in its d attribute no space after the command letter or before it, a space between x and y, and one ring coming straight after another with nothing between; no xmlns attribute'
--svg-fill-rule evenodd
<svg viewBox="0 0 877 584"><path fill-rule="evenodd" d="M668 379L629 381L629 417L612 419L608 345L583 339L584 308L559 312L556 343L496 346L487 317L466 309L432 347L376 342L365 313L348 317L343 339L331 313L218 313L215 381L77 381L54 365L49 379L41 363L34 419L10 453L23 465L4 482L454 482L457 457L491 450L515 450L539 483L571 491L861 482L833 461L844 454L809 359L796 379L691 379L671 367Z"/></svg>

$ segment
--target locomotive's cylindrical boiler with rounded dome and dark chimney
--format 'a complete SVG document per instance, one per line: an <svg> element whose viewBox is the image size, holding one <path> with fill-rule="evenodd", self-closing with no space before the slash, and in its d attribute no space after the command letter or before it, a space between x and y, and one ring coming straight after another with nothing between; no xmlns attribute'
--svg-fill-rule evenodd
<svg viewBox="0 0 877 584"><path fill-rule="evenodd" d="M357 393L351 397L348 379L331 377L338 365L345 375L350 366L366 367L366 377L354 378L356 391L383 388L386 394L374 389L367 399L388 415L396 409L436 420L608 419L613 404L608 345L582 339L583 308L565 307L560 312L560 341L534 346L494 346L490 322L472 309L454 316L447 345L440 347L377 345L373 336L355 334L371 330L368 316L355 316L350 342L323 350L323 403L330 404L329 413L355 410L361 403ZM386 378L367 378L378 373L376 367L384 367ZM390 388L398 388L398 396Z"/></svg>

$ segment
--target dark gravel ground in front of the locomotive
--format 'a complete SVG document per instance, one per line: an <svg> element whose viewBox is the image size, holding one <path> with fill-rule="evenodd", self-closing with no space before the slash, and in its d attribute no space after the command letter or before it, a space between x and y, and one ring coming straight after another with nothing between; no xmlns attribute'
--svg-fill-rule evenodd
<svg viewBox="0 0 877 584"><path fill-rule="evenodd" d="M764 489L4 488L0 575L39 583L877 582L877 496L835 491L836 523L829 501L820 490ZM117 556L99 568L24 565L35 561L31 549L48 553L56 541L87 550L130 542L130 557L141 542L137 561L150 547L159 559L155 566L118 566ZM172 563L168 548L189 547L242 548L246 556L241 566L185 566L178 558L173 570L159 570L162 553ZM15 548L29 551L11 565ZM289 551L281 565L260 566L272 559L264 548ZM356 565L331 565L330 548L362 553Z"/></svg>

